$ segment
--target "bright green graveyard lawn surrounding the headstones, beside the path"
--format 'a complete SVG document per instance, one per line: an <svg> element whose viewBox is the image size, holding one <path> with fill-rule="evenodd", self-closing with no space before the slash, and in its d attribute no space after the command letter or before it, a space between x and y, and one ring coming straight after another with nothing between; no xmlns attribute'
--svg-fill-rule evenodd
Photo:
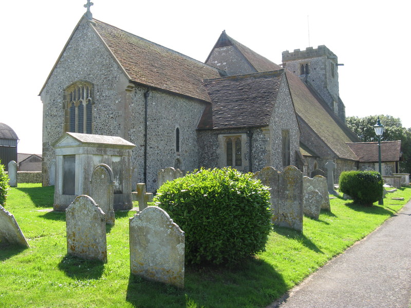
<svg viewBox="0 0 411 308"><path fill-rule="evenodd" d="M333 199L331 213L304 217L303 234L275 226L266 252L237 268L186 266L179 290L130 275L128 218L134 211L117 212L115 226L107 226L108 263L68 256L65 213L50 211L53 193L40 184L10 190L5 208L30 248L0 248L0 307L266 307L411 198L411 188L401 188L384 206Z"/></svg>

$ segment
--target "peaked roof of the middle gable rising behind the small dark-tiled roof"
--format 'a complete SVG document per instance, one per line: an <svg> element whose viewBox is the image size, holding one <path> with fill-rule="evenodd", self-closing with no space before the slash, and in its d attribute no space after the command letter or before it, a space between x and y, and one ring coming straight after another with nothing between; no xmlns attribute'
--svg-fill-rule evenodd
<svg viewBox="0 0 411 308"><path fill-rule="evenodd" d="M252 67L254 67L256 72L283 69L281 66L275 64L274 62L271 62L266 57L256 53L247 46L238 43L236 40L226 34L226 30L222 31L220 37L217 40L217 43L214 45L214 48L211 50L209 56L207 57L207 60L204 62L207 63L215 48L224 46L234 46L242 55L244 55L248 63Z"/></svg>

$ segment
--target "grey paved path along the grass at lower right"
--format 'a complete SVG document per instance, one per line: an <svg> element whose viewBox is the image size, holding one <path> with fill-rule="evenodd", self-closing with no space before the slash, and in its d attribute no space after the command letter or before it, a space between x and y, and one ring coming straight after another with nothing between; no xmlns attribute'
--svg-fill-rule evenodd
<svg viewBox="0 0 411 308"><path fill-rule="evenodd" d="M411 201L270 308L410 308Z"/></svg>

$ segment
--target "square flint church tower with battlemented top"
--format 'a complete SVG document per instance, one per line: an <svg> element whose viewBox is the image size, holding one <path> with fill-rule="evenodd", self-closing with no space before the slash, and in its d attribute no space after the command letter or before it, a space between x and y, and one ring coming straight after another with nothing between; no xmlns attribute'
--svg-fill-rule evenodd
<svg viewBox="0 0 411 308"><path fill-rule="evenodd" d="M283 51L283 66L299 76L304 83L320 95L331 110L345 123L345 106L340 99L338 63L335 55L326 46L317 49Z"/></svg>

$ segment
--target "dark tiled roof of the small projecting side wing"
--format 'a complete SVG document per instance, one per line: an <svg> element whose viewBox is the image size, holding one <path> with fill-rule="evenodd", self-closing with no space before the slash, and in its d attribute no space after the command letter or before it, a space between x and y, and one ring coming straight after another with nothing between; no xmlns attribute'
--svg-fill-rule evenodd
<svg viewBox="0 0 411 308"><path fill-rule="evenodd" d="M267 126L284 70L204 80L212 104L199 129Z"/></svg>

